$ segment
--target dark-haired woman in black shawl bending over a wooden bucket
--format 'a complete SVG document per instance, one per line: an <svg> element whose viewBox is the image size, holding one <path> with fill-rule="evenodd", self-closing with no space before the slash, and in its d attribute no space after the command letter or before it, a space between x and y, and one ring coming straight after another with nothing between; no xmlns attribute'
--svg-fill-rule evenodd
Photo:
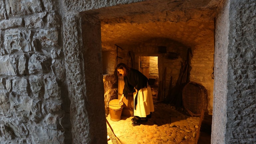
<svg viewBox="0 0 256 144"><path fill-rule="evenodd" d="M124 76L124 89L119 104L123 98L128 99L128 93L133 93L134 98L134 118L132 125L140 125L151 117L154 111L151 88L148 85L148 78L136 69L129 68L124 63L119 63L116 67L118 76Z"/></svg>

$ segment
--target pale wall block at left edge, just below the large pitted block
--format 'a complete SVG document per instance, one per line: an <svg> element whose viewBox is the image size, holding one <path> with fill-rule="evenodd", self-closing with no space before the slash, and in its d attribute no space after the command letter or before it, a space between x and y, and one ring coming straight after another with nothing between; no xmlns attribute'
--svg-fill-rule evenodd
<svg viewBox="0 0 256 144"><path fill-rule="evenodd" d="M16 58L14 56L0 56L0 75L16 75Z"/></svg>

